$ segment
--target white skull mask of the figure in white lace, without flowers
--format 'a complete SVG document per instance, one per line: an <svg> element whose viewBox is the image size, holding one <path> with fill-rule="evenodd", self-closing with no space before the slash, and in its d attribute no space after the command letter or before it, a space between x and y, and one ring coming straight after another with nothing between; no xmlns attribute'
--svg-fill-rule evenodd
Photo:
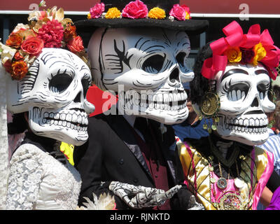
<svg viewBox="0 0 280 224"><path fill-rule="evenodd" d="M60 48L44 48L29 73L10 81L8 110L29 111L29 127L39 136L79 146L87 141L87 113L94 106L85 94L91 85L88 66Z"/></svg>

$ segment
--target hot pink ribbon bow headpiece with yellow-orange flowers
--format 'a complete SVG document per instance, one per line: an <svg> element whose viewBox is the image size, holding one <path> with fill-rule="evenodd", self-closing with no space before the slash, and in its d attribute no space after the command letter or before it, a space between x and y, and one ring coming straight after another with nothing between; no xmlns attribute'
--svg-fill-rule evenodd
<svg viewBox="0 0 280 224"><path fill-rule="evenodd" d="M265 29L260 34L260 25L252 25L248 34L243 34L240 25L233 21L223 28L223 37L210 44L213 57L204 61L202 76L214 78L218 71L225 71L228 63L253 64L261 62L270 78L276 79L276 67L279 65L280 50Z"/></svg>

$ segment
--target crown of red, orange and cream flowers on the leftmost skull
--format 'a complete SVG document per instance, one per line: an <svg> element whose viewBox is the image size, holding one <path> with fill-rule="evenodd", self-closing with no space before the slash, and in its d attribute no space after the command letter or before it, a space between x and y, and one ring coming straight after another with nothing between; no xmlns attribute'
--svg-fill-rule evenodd
<svg viewBox="0 0 280 224"><path fill-rule="evenodd" d="M54 6L29 13L29 25L18 24L8 36L6 45L0 42L1 63L10 76L21 80L43 48L68 48L85 63L88 62L83 40L64 10Z"/></svg>

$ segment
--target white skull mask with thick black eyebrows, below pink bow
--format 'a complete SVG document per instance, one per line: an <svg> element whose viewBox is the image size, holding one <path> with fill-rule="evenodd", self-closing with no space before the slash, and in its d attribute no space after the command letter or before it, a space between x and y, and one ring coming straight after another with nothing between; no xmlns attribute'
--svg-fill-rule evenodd
<svg viewBox="0 0 280 224"><path fill-rule="evenodd" d="M268 138L267 116L275 105L269 101L270 78L261 64L230 64L216 75L221 100L217 132L223 139L260 145Z"/></svg>

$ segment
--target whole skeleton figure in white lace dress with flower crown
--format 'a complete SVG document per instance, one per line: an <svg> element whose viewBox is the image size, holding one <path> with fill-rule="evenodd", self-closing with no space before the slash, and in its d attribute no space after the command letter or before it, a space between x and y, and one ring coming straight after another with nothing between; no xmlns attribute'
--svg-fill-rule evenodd
<svg viewBox="0 0 280 224"><path fill-rule="evenodd" d="M80 37L72 32L72 38L66 40L69 33L62 24L73 28L62 8L34 11L29 14L29 25L15 27L6 45L0 46L7 109L13 116L22 116L22 124L27 125L28 116L28 132L10 160L6 209L76 209L78 205L80 174L59 146L62 141L76 146L85 143L87 113L94 106L85 99L91 74L85 58L78 57L83 55L82 49L69 51L71 40ZM46 27L57 35L57 42L42 36L42 29L48 32ZM24 36L20 47L14 45L17 35ZM60 48L62 41L69 50ZM22 66L16 67L18 64Z"/></svg>

